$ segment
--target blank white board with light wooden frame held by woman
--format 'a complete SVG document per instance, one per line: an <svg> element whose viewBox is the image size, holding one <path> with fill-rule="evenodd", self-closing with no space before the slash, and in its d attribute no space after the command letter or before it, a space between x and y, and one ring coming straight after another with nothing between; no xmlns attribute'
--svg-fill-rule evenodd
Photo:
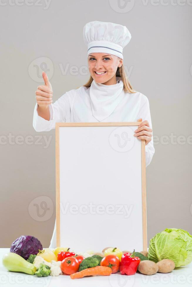
<svg viewBox="0 0 192 287"><path fill-rule="evenodd" d="M56 124L57 246L146 250L144 140L139 122Z"/></svg>

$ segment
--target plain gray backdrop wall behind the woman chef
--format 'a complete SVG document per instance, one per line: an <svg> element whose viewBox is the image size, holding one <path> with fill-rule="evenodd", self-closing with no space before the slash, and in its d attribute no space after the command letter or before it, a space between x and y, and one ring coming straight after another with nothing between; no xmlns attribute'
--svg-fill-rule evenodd
<svg viewBox="0 0 192 287"><path fill-rule="evenodd" d="M129 29L132 39L124 48L124 65L133 88L150 103L155 154L146 168L148 244L165 228L192 234L190 2L141 0L127 6L121 0L125 8L118 8L117 1L101 0L51 1L48 7L44 1L31 6L27 1L20 6L11 3L0 7L0 247L10 247L20 235L36 236L43 247L50 244L55 223L55 130L33 129L35 91L43 84L41 67L50 70L53 102L87 81L89 74L80 70L87 66L82 30L93 20ZM47 68L40 66L43 57L49 59ZM36 136L41 136L38 143ZM45 139L50 139L48 146ZM33 209L36 202L43 214L40 196L50 200L48 219Z"/></svg>

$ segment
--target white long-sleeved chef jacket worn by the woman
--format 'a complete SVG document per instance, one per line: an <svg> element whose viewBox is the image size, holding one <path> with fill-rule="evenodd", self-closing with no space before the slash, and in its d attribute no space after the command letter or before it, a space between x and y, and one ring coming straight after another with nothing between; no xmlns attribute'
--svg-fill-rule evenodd
<svg viewBox="0 0 192 287"><path fill-rule="evenodd" d="M64 93L58 100L49 105L49 121L38 115L36 103L33 113L34 129L36 131L50 131L55 129L56 122L99 122L92 114L89 91L90 87L81 86ZM124 97L112 114L102 122L137 122L140 118L142 121L147 120L152 129L148 98L139 92L124 93ZM151 141L145 146L146 166L151 162L154 152L152 136ZM49 247L56 247L56 220Z"/></svg>

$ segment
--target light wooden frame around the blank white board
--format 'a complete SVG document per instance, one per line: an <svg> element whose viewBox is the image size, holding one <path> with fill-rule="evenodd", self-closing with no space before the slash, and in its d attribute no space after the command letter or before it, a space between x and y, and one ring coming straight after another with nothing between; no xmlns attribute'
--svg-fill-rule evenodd
<svg viewBox="0 0 192 287"><path fill-rule="evenodd" d="M59 127L94 127L94 126L139 126L140 122L72 122L56 123L55 125L55 164L56 164L56 244L60 246L60 157L59 157ZM141 140L142 160L142 227L143 250L147 251L147 218L146 218L146 166L145 140Z"/></svg>

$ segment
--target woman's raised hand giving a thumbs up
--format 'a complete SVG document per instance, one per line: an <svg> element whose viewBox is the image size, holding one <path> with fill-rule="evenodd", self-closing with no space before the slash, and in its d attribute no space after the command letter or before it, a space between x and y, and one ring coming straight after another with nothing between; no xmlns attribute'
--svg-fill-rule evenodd
<svg viewBox="0 0 192 287"><path fill-rule="evenodd" d="M45 72L42 72L43 80L45 82L44 85L38 86L36 90L36 101L38 106L42 108L47 108L53 100L53 89L49 82L48 76Z"/></svg>

